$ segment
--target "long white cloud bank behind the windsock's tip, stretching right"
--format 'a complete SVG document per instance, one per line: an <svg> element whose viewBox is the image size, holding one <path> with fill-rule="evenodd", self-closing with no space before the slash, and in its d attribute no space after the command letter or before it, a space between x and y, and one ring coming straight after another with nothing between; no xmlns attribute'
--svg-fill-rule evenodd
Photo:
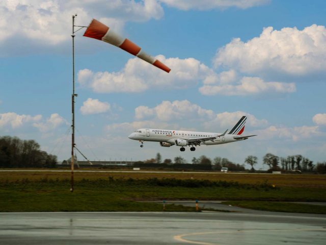
<svg viewBox="0 0 326 245"><path fill-rule="evenodd" d="M265 82L258 77L239 78L233 69L216 74L194 58L179 59L164 56L157 58L171 67L169 74L139 58L131 58L119 72L79 70L78 82L98 93L185 89L194 87L198 81L204 84L199 88L203 95L256 95L292 93L296 90L294 83Z"/></svg>

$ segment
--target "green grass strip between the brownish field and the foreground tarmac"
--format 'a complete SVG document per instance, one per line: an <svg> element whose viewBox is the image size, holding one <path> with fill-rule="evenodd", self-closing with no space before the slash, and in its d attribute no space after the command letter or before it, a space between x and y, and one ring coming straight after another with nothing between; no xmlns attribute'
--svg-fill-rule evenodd
<svg viewBox="0 0 326 245"><path fill-rule="evenodd" d="M326 201L320 188L275 187L196 179L81 179L70 193L69 179L0 181L0 211L162 211L162 204L137 200ZM195 211L166 205L166 211ZM276 210L279 211L279 210Z"/></svg>

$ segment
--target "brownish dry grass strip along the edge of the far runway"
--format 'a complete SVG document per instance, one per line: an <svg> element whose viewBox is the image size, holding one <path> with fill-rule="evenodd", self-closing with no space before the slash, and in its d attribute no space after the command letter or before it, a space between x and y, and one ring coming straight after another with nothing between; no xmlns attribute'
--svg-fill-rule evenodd
<svg viewBox="0 0 326 245"><path fill-rule="evenodd" d="M15 169L9 169L15 170ZM20 169L21 170L21 169ZM28 169L33 170L33 169ZM42 169L44 170L44 169ZM60 169L62 170L62 169ZM66 169L68 170L68 169ZM94 170L94 169L93 169ZM99 169L96 169L99 170ZM107 180L108 177L113 177L115 179L119 178L133 178L133 179L148 179L148 178L175 178L175 179L197 179L197 180L210 180L210 181L236 181L241 184L255 184L257 182L265 182L280 186L280 187L312 187L312 188L324 188L326 189L326 175L273 175L273 174L232 174L232 173L144 173L142 171L134 171L132 173L121 173L119 171L106 173L105 171L98 172L87 172L87 171L76 171L74 173L74 178L76 181L82 179ZM70 172L55 172L49 169L49 171L12 171L12 172L0 172L0 182L10 181L14 182L16 180L22 179L29 180L40 180L40 179L69 179Z"/></svg>

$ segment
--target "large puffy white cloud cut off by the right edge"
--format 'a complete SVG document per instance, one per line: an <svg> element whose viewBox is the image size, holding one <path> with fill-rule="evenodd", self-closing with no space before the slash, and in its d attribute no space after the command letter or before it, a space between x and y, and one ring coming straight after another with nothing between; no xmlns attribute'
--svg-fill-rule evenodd
<svg viewBox="0 0 326 245"><path fill-rule="evenodd" d="M278 71L291 76L316 74L326 69L326 29L312 24L303 30L268 27L247 42L234 38L220 48L214 65L251 74Z"/></svg>

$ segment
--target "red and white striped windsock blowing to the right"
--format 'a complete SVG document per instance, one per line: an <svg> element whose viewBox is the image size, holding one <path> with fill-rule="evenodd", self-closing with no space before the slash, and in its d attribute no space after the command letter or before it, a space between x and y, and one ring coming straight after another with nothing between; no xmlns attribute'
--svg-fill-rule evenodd
<svg viewBox="0 0 326 245"><path fill-rule="evenodd" d="M111 43L117 47L122 48L124 51L127 51L128 53L137 56L138 58L141 58L142 60L145 60L148 63L151 63L152 65L155 65L156 67L162 70L165 70L166 72L170 72L171 70L168 66L166 66L159 60L146 54L141 47L134 44L129 39L119 36L110 28L105 26L105 24L101 23L96 19L92 20L86 32L84 33L84 36Z"/></svg>

